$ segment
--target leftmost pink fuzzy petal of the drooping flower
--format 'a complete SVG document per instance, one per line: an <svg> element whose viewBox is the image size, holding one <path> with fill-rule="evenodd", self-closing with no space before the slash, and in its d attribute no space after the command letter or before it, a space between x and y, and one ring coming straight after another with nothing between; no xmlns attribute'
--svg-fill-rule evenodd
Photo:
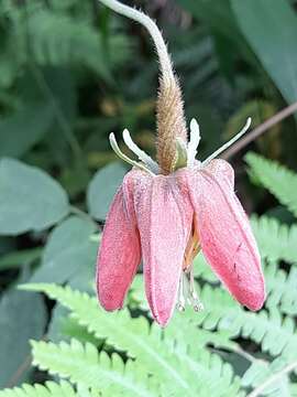
<svg viewBox="0 0 297 397"><path fill-rule="evenodd" d="M106 310L121 309L141 260L129 174L110 206L97 260L97 293Z"/></svg>

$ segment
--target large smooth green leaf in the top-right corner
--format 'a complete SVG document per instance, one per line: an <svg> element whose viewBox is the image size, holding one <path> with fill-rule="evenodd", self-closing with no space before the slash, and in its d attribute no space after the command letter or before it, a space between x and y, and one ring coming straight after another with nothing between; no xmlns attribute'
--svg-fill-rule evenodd
<svg viewBox="0 0 297 397"><path fill-rule="evenodd" d="M286 0L231 0L238 23L288 103L297 99L297 18Z"/></svg>

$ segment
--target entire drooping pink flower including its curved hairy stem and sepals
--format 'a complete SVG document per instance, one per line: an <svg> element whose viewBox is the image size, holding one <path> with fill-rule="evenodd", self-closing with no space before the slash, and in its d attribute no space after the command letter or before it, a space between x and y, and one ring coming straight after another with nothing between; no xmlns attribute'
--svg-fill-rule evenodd
<svg viewBox="0 0 297 397"><path fill-rule="evenodd" d="M114 136L110 136L112 149L133 169L107 216L97 261L99 301L106 310L121 309L142 260L147 301L162 326L176 304L184 310L187 301L196 311L201 310L193 270L193 260L201 249L230 293L249 309L261 309L265 287L257 246L234 193L233 169L223 160L215 160L246 131L251 120L206 161L195 160L199 127L191 121L188 142L182 90L157 26L119 1L103 2L148 30L160 58L161 87L158 163L132 141L128 130L123 140L141 162L123 154Z"/></svg>

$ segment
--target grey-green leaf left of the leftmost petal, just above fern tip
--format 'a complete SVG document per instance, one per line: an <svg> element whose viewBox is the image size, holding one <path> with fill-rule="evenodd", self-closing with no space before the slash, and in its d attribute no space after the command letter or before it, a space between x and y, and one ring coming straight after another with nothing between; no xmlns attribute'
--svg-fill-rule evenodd
<svg viewBox="0 0 297 397"><path fill-rule="evenodd" d="M64 283L87 269L95 269L97 244L90 240L91 222L72 216L58 225L45 246L42 265L31 281ZM80 277L80 276L79 276Z"/></svg>

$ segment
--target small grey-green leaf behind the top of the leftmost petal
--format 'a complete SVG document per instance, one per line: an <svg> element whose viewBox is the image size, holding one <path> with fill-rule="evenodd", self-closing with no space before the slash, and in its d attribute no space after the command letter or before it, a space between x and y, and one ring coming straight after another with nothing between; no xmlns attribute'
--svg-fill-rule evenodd
<svg viewBox="0 0 297 397"><path fill-rule="evenodd" d="M125 172L120 162L113 162L95 174L88 187L87 200L89 212L96 219L105 219Z"/></svg>

